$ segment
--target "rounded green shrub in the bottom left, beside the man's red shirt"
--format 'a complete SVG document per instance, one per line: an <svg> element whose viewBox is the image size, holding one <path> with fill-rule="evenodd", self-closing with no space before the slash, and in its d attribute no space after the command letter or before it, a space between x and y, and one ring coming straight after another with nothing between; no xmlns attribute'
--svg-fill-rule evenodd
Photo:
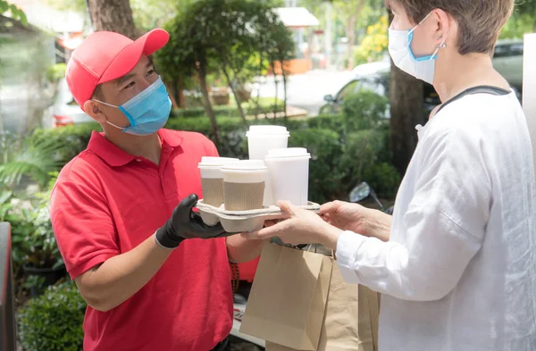
<svg viewBox="0 0 536 351"><path fill-rule="evenodd" d="M26 351L81 351L86 302L74 283L49 287L19 310L19 336Z"/></svg>

